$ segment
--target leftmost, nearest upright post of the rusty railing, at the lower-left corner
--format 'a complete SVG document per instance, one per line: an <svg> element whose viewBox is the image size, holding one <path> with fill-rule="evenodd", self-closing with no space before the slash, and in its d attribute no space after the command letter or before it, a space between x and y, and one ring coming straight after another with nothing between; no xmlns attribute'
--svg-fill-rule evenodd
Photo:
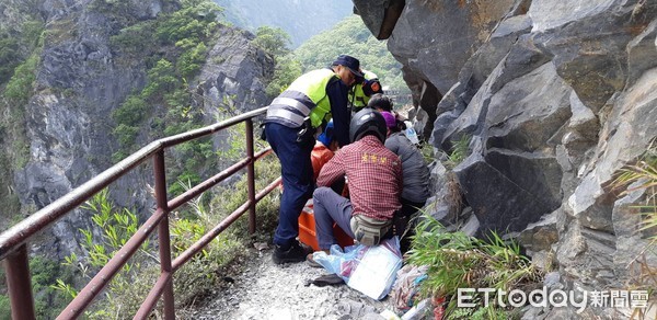
<svg viewBox="0 0 657 320"><path fill-rule="evenodd" d="M7 256L4 270L7 271L7 286L9 287L9 298L11 300L11 318L20 320L36 319L26 244L22 244L16 251Z"/></svg>

